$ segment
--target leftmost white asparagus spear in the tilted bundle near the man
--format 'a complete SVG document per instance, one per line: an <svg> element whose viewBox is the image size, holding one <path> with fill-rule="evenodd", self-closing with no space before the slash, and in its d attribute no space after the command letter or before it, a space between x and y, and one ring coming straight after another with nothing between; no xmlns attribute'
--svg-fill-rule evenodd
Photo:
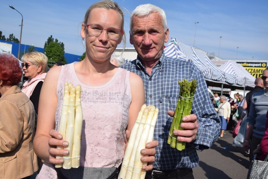
<svg viewBox="0 0 268 179"><path fill-rule="evenodd" d="M126 150L125 150L125 154L124 154L124 159L122 162L122 167L119 173L120 178L124 179L126 176L126 171L127 171L127 165L131 156L131 152L132 152L132 148L135 142L135 138L136 138L136 133L139 127L139 122L142 119L142 114L143 114L143 110L146 108L146 104L143 104L141 107L140 112L138 113L137 119L136 119L136 123L134 124L132 130L131 130L131 134L126 146Z"/></svg>

